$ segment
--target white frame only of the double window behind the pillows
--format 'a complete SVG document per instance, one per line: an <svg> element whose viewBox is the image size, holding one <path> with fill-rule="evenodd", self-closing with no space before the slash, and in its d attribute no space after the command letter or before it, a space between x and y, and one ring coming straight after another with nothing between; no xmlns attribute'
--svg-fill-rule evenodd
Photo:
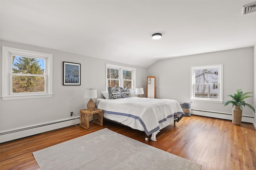
<svg viewBox="0 0 256 170"><path fill-rule="evenodd" d="M123 70L132 71L132 88L130 90L135 90L136 88L136 68L119 66L114 64L106 63L106 90L108 91L108 68L119 69L119 86L124 87L124 79L123 79Z"/></svg>

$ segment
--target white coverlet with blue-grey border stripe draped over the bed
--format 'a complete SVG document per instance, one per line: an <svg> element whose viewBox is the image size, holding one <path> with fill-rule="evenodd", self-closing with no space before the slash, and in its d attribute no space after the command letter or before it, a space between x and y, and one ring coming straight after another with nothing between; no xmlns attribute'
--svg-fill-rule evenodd
<svg viewBox="0 0 256 170"><path fill-rule="evenodd" d="M160 130L159 123L174 115L180 117L184 114L176 100L138 97L100 100L98 109L102 109L103 113L138 119L145 133L154 135L152 140L156 140L155 135Z"/></svg>

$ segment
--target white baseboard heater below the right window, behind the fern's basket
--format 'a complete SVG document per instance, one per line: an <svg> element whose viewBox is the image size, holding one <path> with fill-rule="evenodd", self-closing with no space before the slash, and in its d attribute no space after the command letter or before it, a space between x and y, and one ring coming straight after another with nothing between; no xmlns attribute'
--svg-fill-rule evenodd
<svg viewBox="0 0 256 170"><path fill-rule="evenodd" d="M192 115L206 116L206 117L214 117L214 118L219 118L219 119L232 120L232 114L231 113L221 113L221 112L191 109L191 114ZM247 115L242 115L242 122L253 123L253 121L254 121L254 117L247 116Z"/></svg>

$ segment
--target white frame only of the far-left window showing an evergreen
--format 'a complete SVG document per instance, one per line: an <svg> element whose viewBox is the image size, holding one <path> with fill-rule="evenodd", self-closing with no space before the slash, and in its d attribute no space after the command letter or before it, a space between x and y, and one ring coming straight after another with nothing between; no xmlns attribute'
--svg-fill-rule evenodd
<svg viewBox="0 0 256 170"><path fill-rule="evenodd" d="M12 93L11 53L45 60L45 92ZM52 96L52 54L2 46L2 100L48 98Z"/></svg>

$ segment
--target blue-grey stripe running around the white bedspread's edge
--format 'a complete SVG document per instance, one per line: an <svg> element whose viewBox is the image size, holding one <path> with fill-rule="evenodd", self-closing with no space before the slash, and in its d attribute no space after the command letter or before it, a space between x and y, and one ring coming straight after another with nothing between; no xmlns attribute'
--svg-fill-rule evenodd
<svg viewBox="0 0 256 170"><path fill-rule="evenodd" d="M147 135L150 135L156 131L158 131L160 129L160 127L156 127L155 129L151 130L151 131L148 131L147 128L146 128L146 125L144 124L144 122L140 119L140 117L138 116L135 116L135 115L131 115L131 114L127 114L127 113L119 113L119 112L114 112L114 111L106 111L106 110L103 110L103 113L108 113L108 114L113 114L113 115L122 115L122 116L126 116L126 117L132 117L134 119L138 119L138 121L141 123L141 125L143 126L144 128L144 131ZM172 115L168 115L167 118L164 118L160 121L158 121L158 123L162 123L164 121L167 121L168 118L170 117L174 117L174 115L178 115L178 114L184 114L183 112L176 112Z"/></svg>

